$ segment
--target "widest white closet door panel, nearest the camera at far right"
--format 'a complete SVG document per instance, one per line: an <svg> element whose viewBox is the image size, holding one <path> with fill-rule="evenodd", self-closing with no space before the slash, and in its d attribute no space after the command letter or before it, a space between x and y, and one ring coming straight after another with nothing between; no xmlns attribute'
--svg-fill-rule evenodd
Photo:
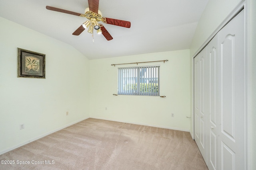
<svg viewBox="0 0 256 170"><path fill-rule="evenodd" d="M244 10L218 33L221 170L245 169Z"/></svg>

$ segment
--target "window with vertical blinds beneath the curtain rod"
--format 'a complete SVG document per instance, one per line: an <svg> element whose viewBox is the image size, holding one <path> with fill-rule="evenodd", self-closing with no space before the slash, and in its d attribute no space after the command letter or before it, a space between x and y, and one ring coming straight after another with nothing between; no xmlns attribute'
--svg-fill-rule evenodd
<svg viewBox="0 0 256 170"><path fill-rule="evenodd" d="M159 96L160 66L118 68L118 94Z"/></svg>

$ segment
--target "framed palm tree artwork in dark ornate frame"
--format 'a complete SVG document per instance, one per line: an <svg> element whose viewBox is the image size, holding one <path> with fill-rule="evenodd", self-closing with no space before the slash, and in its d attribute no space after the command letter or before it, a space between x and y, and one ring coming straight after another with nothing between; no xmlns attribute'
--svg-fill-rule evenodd
<svg viewBox="0 0 256 170"><path fill-rule="evenodd" d="M18 77L45 78L45 54L18 48Z"/></svg>

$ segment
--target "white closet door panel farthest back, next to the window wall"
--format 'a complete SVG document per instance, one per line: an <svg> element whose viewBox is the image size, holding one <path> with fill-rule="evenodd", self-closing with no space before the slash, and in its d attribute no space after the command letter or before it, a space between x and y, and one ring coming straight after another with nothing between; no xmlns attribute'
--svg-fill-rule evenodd
<svg viewBox="0 0 256 170"><path fill-rule="evenodd" d="M194 134L198 148L206 162L206 121L205 113L205 83L206 83L206 48L194 58Z"/></svg>

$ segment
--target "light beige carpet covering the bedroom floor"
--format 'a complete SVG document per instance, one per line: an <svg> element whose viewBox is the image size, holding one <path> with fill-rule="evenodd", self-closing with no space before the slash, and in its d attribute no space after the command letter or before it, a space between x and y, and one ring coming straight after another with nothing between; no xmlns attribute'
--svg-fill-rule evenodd
<svg viewBox="0 0 256 170"><path fill-rule="evenodd" d="M188 132L92 118L2 154L0 160L15 162L0 164L1 170L208 170Z"/></svg>

